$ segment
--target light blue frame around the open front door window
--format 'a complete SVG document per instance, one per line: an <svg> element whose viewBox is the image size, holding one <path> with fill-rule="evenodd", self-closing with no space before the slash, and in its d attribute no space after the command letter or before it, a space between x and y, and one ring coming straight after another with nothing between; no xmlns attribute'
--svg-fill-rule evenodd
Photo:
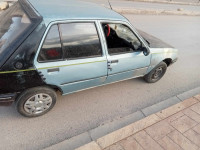
<svg viewBox="0 0 200 150"><path fill-rule="evenodd" d="M113 53L113 54L109 54L109 50L108 50L108 44L107 44L107 40L106 40L106 37L105 37L105 33L104 33L104 30L103 30L103 26L102 24L123 24L125 26L127 26L132 32L133 34L136 36L136 38L138 38L138 40L141 42L141 44L143 46L145 46L146 48L149 49L149 46L144 42L144 39L140 36L140 34L137 32L137 30L133 27L132 24L130 24L128 21L118 21L118 20L101 20L99 21L99 24L100 24L100 27L101 27L101 31L102 31L102 36L104 38L104 43L106 44L106 54L107 56L116 56L116 55L125 55L125 54L131 54L131 53L135 53L135 52L138 52L138 51L132 51L132 52L121 52L121 53Z"/></svg>

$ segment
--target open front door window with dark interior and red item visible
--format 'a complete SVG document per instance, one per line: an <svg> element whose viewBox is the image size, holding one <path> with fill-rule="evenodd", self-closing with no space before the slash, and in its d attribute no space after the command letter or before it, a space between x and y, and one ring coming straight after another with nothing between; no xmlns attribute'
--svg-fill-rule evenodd
<svg viewBox="0 0 200 150"><path fill-rule="evenodd" d="M140 40L129 27L123 24L102 24L110 55L138 51L142 46Z"/></svg>

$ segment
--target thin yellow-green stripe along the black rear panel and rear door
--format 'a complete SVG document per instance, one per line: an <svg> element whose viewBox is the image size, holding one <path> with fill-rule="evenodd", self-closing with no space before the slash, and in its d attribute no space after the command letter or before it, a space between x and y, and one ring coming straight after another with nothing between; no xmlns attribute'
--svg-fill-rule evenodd
<svg viewBox="0 0 200 150"><path fill-rule="evenodd" d="M91 64L91 63L105 62L105 61L107 61L107 60L85 62L85 63L78 63L78 64L70 64L70 65L53 66L53 67L44 67L44 68L38 68L38 70L51 69L51 68L59 68L59 67L67 67L67 66L76 66L76 65L83 65L83 64ZM2 72L0 72L0 74L25 72L25 71L33 71L33 70L36 70L36 69L25 69L25 70L15 70L15 71L2 71Z"/></svg>

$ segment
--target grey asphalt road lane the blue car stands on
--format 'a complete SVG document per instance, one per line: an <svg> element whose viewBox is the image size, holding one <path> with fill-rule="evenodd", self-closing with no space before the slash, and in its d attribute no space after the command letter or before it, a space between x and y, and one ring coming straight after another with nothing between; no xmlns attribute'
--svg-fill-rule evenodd
<svg viewBox="0 0 200 150"><path fill-rule="evenodd" d="M0 149L42 149L200 86L200 17L126 15L144 30L179 49L179 60L164 78L142 78L58 98L48 114L28 119L14 106L0 107Z"/></svg>

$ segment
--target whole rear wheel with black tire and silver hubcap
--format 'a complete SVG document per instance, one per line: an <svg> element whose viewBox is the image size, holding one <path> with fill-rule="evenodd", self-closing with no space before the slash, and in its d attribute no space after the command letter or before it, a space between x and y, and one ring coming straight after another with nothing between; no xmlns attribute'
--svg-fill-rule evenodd
<svg viewBox="0 0 200 150"><path fill-rule="evenodd" d="M50 111L56 103L56 92L48 87L35 87L22 92L16 101L17 111L25 117L38 117Z"/></svg>

